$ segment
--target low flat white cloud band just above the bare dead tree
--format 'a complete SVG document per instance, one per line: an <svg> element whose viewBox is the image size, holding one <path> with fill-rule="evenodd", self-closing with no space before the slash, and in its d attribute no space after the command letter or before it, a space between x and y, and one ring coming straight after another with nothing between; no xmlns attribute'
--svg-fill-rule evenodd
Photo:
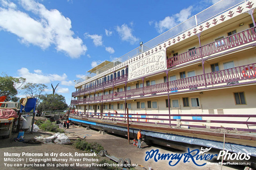
<svg viewBox="0 0 256 170"><path fill-rule="evenodd" d="M64 81L67 79L67 75L65 73L63 75L57 75L57 74L43 75L42 72L38 74L38 71L34 73L30 73L27 68L18 69L18 74L20 77L26 78L26 82L31 82L31 83L46 84L53 81Z"/></svg>

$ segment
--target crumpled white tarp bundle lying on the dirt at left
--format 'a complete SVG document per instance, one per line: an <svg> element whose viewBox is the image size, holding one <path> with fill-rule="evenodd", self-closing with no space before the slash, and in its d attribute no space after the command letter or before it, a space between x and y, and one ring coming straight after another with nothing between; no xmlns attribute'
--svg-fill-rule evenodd
<svg viewBox="0 0 256 170"><path fill-rule="evenodd" d="M44 144L69 144L70 140L64 133L57 132L53 136L43 138L41 136L35 138L37 141L40 141Z"/></svg>

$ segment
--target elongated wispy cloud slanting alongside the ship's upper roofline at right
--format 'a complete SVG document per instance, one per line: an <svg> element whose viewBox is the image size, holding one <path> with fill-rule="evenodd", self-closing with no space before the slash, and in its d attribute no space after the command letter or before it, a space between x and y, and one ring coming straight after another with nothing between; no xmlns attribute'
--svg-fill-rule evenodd
<svg viewBox="0 0 256 170"><path fill-rule="evenodd" d="M159 22L155 22L155 28L159 33L167 31L179 23L188 19L191 15L191 11L193 6L189 6L188 8L182 9L180 13L176 13L173 16L167 16L163 20ZM149 25L152 24L151 22Z"/></svg>

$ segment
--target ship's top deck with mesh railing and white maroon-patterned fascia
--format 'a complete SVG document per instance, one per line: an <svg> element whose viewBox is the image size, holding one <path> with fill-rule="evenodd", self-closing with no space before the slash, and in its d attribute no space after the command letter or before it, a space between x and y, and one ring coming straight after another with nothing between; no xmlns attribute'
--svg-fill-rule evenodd
<svg viewBox="0 0 256 170"><path fill-rule="evenodd" d="M75 88L127 66L132 63L135 57L143 57L144 53L144 56L153 54L161 50L161 48L168 48L194 35L198 35L202 31L209 30L229 19L233 19L253 8L252 6L253 2L249 0L221 0L116 60L112 62L104 61L93 69L88 70L85 77L75 81Z"/></svg>

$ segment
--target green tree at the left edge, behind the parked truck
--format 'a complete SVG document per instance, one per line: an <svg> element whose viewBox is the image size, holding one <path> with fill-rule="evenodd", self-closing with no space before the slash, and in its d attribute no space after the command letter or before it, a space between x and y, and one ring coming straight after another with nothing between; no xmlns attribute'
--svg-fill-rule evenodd
<svg viewBox="0 0 256 170"><path fill-rule="evenodd" d="M19 98L15 95L18 94L18 90L25 83L26 79L2 75L0 76L0 96L6 95L6 101L19 101Z"/></svg>

